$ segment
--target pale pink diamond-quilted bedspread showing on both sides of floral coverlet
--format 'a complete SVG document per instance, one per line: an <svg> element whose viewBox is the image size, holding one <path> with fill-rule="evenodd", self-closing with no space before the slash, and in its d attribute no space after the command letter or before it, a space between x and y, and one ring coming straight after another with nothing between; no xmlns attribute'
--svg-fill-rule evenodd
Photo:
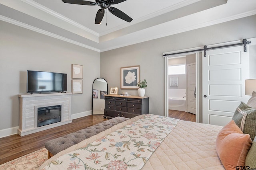
<svg viewBox="0 0 256 170"><path fill-rule="evenodd" d="M62 154L76 150L105 135L116 131L143 115L119 123L106 131L90 137L72 147L63 150L44 162L40 169ZM215 141L221 126L179 121L172 132L150 156L142 170L183 170L183 169L224 169L218 158Z"/></svg>

